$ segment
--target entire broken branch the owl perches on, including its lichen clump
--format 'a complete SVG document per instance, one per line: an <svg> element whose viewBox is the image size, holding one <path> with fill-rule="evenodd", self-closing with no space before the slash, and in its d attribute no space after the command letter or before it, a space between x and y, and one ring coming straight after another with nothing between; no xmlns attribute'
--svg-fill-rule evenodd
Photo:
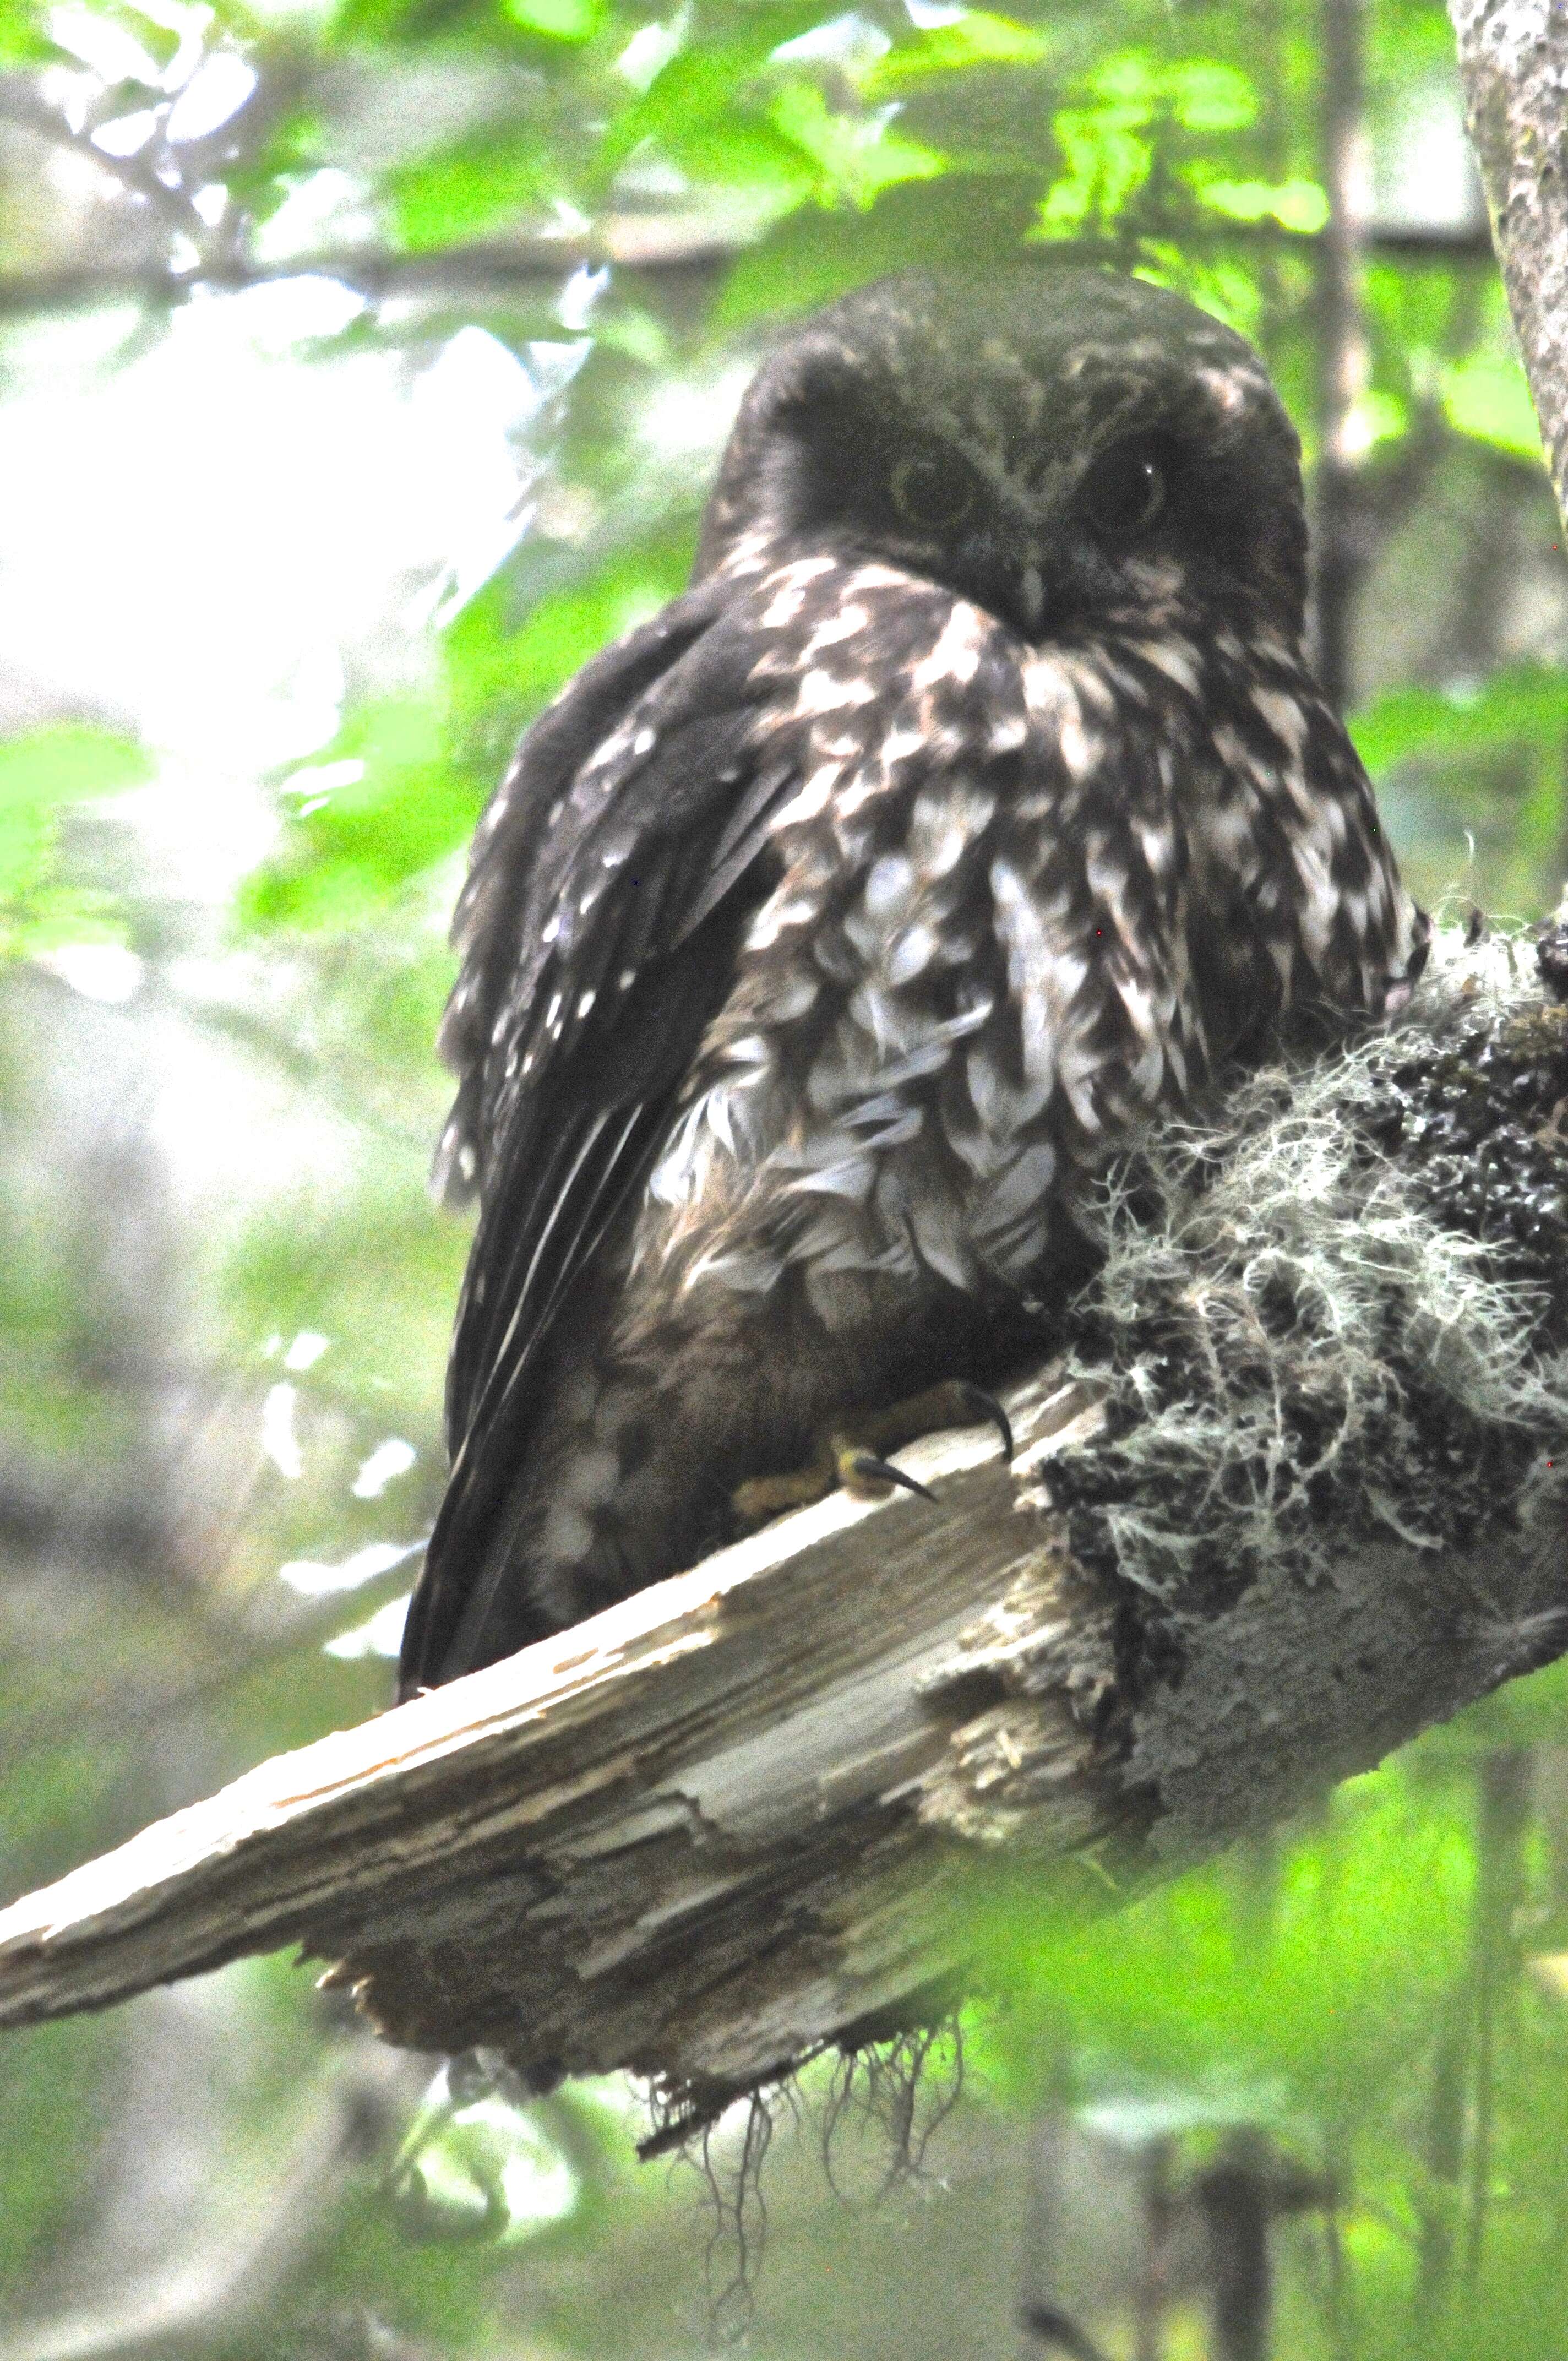
<svg viewBox="0 0 1568 2361"><path fill-rule="evenodd" d="M2 1912L0 2021L298 1943L397 2042L708 2111L980 1979L978 1863L1103 1908L1556 1655L1568 1018L1462 954L1301 1074L1122 1218L1079 1374L1008 1395L1011 1469L935 1435L935 1504L836 1495L264 1764ZM1448 1225L1476 1171L1495 1247ZM1200 1398L1230 1428L1183 1440Z"/></svg>

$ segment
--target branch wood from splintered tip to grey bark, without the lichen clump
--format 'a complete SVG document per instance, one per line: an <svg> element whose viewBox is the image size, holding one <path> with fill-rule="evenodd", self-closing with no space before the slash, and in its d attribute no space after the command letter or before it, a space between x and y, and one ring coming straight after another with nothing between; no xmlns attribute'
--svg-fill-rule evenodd
<svg viewBox="0 0 1568 2361"><path fill-rule="evenodd" d="M697 2123L982 1981L978 1863L1105 1908L1568 1643L1509 1499L1469 1554L1351 1520L1332 1580L1157 1605L1051 1506L1096 1393L1006 1405L1011 1469L935 1435L935 1502L834 1495L19 1901L0 2023L295 1943L394 2042L633 2068Z"/></svg>

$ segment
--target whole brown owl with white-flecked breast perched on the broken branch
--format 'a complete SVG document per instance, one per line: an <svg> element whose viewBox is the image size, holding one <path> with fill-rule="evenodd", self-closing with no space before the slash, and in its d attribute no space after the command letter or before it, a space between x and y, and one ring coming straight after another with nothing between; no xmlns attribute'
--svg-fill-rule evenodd
<svg viewBox="0 0 1568 2361"><path fill-rule="evenodd" d="M442 1171L479 1228L404 1690L690 1565L751 1478L980 1379L1086 1178L1426 921L1306 671L1256 354L1086 272L779 345L692 588L477 833Z"/></svg>

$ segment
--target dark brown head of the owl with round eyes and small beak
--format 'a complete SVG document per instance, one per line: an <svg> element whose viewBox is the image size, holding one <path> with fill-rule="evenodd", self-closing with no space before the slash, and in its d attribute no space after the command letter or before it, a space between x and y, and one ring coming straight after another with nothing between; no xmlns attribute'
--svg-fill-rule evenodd
<svg viewBox="0 0 1568 2361"><path fill-rule="evenodd" d="M697 571L808 548L1027 640L1185 616L1294 645L1301 451L1252 345L1167 288L916 272L808 319L741 404Z"/></svg>

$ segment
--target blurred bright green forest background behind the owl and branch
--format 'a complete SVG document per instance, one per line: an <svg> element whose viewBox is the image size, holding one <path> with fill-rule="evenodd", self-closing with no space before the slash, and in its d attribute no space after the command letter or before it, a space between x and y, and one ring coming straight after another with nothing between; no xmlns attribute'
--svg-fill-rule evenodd
<svg viewBox="0 0 1568 2361"><path fill-rule="evenodd" d="M777 319L1063 257L1261 345L1417 892L1551 909L1568 569L1431 0L0 0L7 1894L385 1702L475 815L680 588ZM1561 2356L1561 1669L987 1945L923 2151L954 2035L912 2125L824 2071L720 2127L746 2288L635 2094L432 2082L286 1960L9 2035L0 2361Z"/></svg>

